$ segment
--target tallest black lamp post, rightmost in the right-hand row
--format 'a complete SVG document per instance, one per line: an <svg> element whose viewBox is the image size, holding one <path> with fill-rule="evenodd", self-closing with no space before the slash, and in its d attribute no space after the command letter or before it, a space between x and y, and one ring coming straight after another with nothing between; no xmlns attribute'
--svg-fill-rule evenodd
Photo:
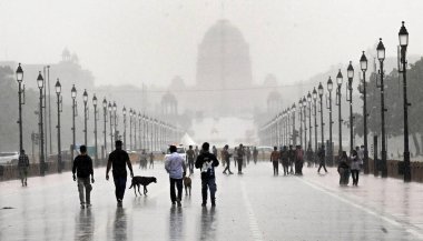
<svg viewBox="0 0 423 241"><path fill-rule="evenodd" d="M409 150L409 99L406 91L406 48L409 46L409 31L402 22L402 27L399 32L400 48L401 48L401 63L399 68L400 72L403 73L403 98L404 98L404 181L411 181L411 170L410 170L410 150Z"/></svg>

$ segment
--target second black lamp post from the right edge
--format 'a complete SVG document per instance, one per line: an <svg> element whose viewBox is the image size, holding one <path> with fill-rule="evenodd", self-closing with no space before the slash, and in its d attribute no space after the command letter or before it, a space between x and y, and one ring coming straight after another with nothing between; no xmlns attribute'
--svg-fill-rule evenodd
<svg viewBox="0 0 423 241"><path fill-rule="evenodd" d="M377 59L381 64L381 121L382 121L382 178L387 177L387 169L386 169L386 139L385 139L385 87L383 83L383 61L385 60L385 47L383 46L382 38L378 41L377 44Z"/></svg>

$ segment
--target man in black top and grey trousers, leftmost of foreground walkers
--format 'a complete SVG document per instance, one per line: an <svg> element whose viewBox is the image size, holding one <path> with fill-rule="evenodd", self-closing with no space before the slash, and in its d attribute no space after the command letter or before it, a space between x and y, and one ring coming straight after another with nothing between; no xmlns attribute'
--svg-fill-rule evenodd
<svg viewBox="0 0 423 241"><path fill-rule="evenodd" d="M73 181L77 181L78 177L78 192L79 201L81 203L81 209L91 207L91 190L94 183L94 170L92 170L92 160L87 154L87 147L81 145L79 148L80 154L75 158L72 167ZM75 177L77 173L77 177ZM89 177L91 175L91 183ZM83 198L85 194L85 198Z"/></svg>

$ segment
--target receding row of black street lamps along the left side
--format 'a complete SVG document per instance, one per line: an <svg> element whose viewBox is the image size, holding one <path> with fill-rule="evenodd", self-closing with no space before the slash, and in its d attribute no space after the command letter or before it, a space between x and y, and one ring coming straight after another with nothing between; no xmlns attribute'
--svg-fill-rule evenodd
<svg viewBox="0 0 423 241"><path fill-rule="evenodd" d="M22 81L23 81L23 70L21 64L19 63L19 67L16 71L17 81L19 84L19 148L20 151L23 150L23 138L22 138L22 104L24 104L24 87L22 88ZM43 106L43 88L45 88L45 81L43 77L41 74L41 71L38 74L37 78L37 84L40 91L40 98L39 98L39 140L40 140L40 174L43 175L46 171L46 158L45 158L45 133L43 133L43 117L42 117L42 109ZM62 112L62 96L61 96L61 83L59 79L57 79L56 86L55 86L56 94L57 94L57 139L58 139L58 172L61 172L62 170L62 157L61 157L61 127L60 127L60 113ZM77 114L77 89L75 84L71 88L71 99L72 99L72 147L71 147L71 160L73 160L73 151L76 147L76 117ZM23 101L22 101L23 96ZM83 101L83 143L88 144L88 119L89 119L89 108L88 108L88 92L87 90L83 90L82 93L82 101ZM98 158L98 143L97 143L97 121L98 121L98 100L96 94L92 96L92 106L94 106L94 122L95 122L95 164L99 164L99 158ZM119 131L118 131L118 111L117 111L117 104L116 102L107 101L106 98L102 100L102 109L104 109L104 151L102 151L102 159L106 158L107 151L107 122L110 122L110 151L114 150L114 141L120 140ZM108 120L109 116L109 120ZM148 114L145 114L140 111L136 111L135 109L129 109L129 147L127 147L127 140L126 140L126 130L127 130L127 109L126 107L122 108L122 116L124 116L124 147L125 149L129 150L163 150L167 147L169 143L177 143L179 138L183 134L183 131L177 128L174 124L167 123L163 120L159 120L157 118L153 118ZM138 125L138 132L137 132L137 125ZM137 135L139 140L139 144L137 143ZM132 138L134 137L134 138ZM132 144L134 139L134 144Z"/></svg>

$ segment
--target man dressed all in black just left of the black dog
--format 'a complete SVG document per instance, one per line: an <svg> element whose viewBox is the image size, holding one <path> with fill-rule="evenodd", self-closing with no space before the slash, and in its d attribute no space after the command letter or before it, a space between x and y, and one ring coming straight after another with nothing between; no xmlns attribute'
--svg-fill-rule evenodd
<svg viewBox="0 0 423 241"><path fill-rule="evenodd" d="M107 162L106 180L109 180L109 171L110 168L112 168L111 173L114 174L116 200L118 202L118 207L122 207L126 181L128 175L126 171L126 165L128 165L131 178L134 178L134 171L128 153L125 150L122 150L122 142L120 140L116 141L115 147L116 150L109 154L109 160Z"/></svg>

